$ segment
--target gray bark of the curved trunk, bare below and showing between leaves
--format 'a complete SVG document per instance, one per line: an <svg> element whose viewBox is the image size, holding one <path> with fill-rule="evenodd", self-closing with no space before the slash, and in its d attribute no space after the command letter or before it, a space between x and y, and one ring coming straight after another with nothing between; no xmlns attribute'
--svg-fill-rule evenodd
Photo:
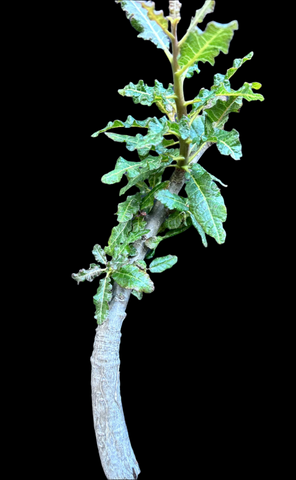
<svg viewBox="0 0 296 480"><path fill-rule="evenodd" d="M203 153L212 145L207 143L192 163L196 163ZM176 168L170 179L168 190L178 193L184 185L185 171ZM169 210L159 201L156 201L151 213L147 215L146 229L150 233L135 242L137 250L133 260L142 260L148 251L145 240L157 235ZM135 479L140 468L133 452L124 419L120 395L119 377L119 347L121 326L126 317L126 307L131 291L120 287L116 282L113 285L113 297L107 320L98 325L91 356L91 389L94 429L99 449L100 459L106 478Z"/></svg>

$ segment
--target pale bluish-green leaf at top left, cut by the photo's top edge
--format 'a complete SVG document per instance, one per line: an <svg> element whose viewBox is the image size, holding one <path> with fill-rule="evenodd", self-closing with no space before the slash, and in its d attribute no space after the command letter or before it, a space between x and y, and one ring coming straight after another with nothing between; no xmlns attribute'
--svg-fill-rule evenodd
<svg viewBox="0 0 296 480"><path fill-rule="evenodd" d="M164 33L158 23L149 19L148 12L143 7L145 2L133 0L115 1L116 3L120 3L121 8L126 12L126 16L130 20L132 26L140 32L138 35L139 38L151 40L157 48L162 48L163 50L168 51L170 45L169 37ZM147 6L149 7L149 4L147 4Z"/></svg>

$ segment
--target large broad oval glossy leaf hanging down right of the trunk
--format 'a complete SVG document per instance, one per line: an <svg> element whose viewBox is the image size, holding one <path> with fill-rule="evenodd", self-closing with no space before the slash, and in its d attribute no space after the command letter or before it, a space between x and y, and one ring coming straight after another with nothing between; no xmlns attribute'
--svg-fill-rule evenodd
<svg viewBox="0 0 296 480"><path fill-rule="evenodd" d="M219 188L199 164L193 165L191 171L186 172L185 179L189 180L185 190L190 211L208 235L215 238L217 243L224 243L226 233L222 222L226 220L226 207Z"/></svg>

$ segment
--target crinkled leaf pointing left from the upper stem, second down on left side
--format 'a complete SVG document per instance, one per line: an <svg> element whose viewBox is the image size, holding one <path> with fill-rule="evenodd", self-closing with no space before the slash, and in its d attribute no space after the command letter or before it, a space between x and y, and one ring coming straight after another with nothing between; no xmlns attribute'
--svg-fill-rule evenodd
<svg viewBox="0 0 296 480"><path fill-rule="evenodd" d="M159 110L174 120L176 114L176 103L174 100L174 86L169 83L168 88L164 88L163 84L155 80L155 86L149 87L143 80L139 80L137 84L130 82L126 87L118 90L122 96L131 97L135 104L151 106L156 103Z"/></svg>

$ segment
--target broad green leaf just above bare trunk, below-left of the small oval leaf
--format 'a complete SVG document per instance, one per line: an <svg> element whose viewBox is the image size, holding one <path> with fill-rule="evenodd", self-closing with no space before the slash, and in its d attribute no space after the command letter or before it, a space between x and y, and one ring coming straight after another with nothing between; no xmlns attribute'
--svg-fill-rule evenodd
<svg viewBox="0 0 296 480"><path fill-rule="evenodd" d="M154 290L154 284L148 273L135 265L124 265L117 272L112 273L112 278L123 288L145 293L151 293Z"/></svg>

